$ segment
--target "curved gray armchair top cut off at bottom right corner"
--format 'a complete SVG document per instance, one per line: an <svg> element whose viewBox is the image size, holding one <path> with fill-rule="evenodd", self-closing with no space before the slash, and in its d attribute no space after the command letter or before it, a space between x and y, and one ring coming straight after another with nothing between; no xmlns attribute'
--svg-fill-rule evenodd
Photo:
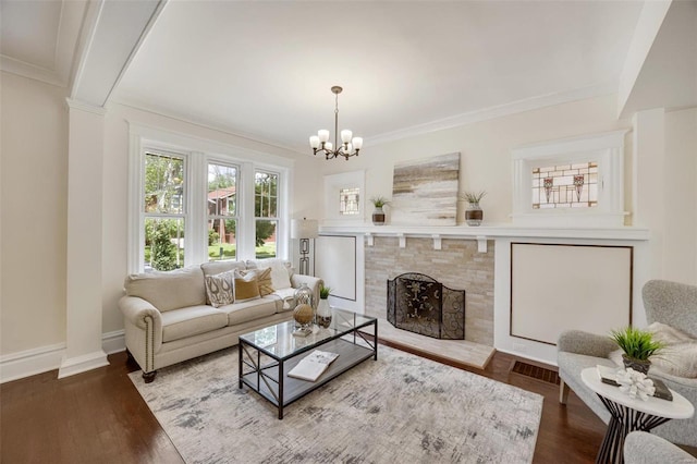
<svg viewBox="0 0 697 464"><path fill-rule="evenodd" d="M697 464L697 457L673 443L645 431L633 431L624 440L626 464Z"/></svg>

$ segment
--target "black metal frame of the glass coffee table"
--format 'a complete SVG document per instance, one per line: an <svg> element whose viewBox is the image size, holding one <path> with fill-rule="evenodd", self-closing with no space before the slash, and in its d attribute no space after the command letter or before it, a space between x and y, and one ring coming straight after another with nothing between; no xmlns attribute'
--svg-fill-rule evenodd
<svg viewBox="0 0 697 464"><path fill-rule="evenodd" d="M374 334L374 340L370 341L366 338L366 335L359 331L359 329L363 329L365 327L369 327L369 326L375 326L375 334ZM308 394L309 392L318 389L319 387L323 386L325 383L327 383L328 381L330 381L331 379L333 379L334 377L350 370L352 367L354 367L355 365L351 365L347 368L341 370L340 373L337 373L334 376L331 377L326 377L322 378L319 381L313 382L310 386L308 386L307 390L303 392L303 394L301 394L297 398L294 398L293 400L289 401L289 402L284 402L283 401L283 383L284 383L284 379L285 376L283 375L283 365L286 361L290 361L292 358L295 358L297 356L302 356L303 354L306 354L309 352L309 350L315 350L318 349L319 346L330 343L334 340L341 339L342 337L348 335L353 333L353 344L356 344L356 335L358 335L367 345L368 347L372 351L372 358L374 361L378 361L378 319L374 319L374 320L369 320L366 321L364 323L360 323L358 326L354 326L351 330L347 330L345 332L340 332L333 337L329 337L325 340L321 340L318 343L308 345L308 346L304 346L302 350L298 350L296 353L293 353L289 356L277 356L276 354L264 350L264 347L261 346L257 346L250 342L248 342L247 340L244 340L243 338L240 338L240 346L237 350L239 353L239 376L240 376L240 388L243 388L243 384L246 384L247 387L249 387L252 390L256 391L257 393L259 393L261 395L261 398L265 398L267 401L269 401L271 404L274 404L278 410L279 410L279 419L283 418L283 407L288 406L289 404L293 403L296 400L299 400L301 398L305 396L306 394ZM250 351L256 351L256 356L254 356L253 353L250 353ZM273 363L269 363L267 365L262 365L261 364L261 355L266 355L269 356L270 358L272 358L274 362ZM245 358L246 355L246 358ZM255 361L256 357L256 361ZM369 358L369 357L367 357ZM366 358L366 359L367 359ZM365 361L365 359L363 359ZM360 363L363 362L360 361ZM359 363L357 363L359 364ZM250 370L248 371L244 371L244 367L247 366ZM269 369L273 369L278 367L278 380L274 379L272 376L268 375L265 373L265 370L269 370ZM252 373L256 373L257 375L257 386L255 387L252 382L248 382L247 379L245 379L245 376ZM269 389L269 392L271 393L271 395L273 396L272 401L270 398L266 396L265 394L262 394L259 390L260 390L260 386L261 386L261 381L264 381L264 383L266 384L266 387ZM272 386L276 386L276 391L274 388Z"/></svg>

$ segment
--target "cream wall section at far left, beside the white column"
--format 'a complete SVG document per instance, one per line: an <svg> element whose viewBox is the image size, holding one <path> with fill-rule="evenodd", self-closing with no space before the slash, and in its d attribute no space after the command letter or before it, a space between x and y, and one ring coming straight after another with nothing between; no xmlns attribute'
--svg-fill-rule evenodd
<svg viewBox="0 0 697 464"><path fill-rule="evenodd" d="M68 108L63 88L1 73L0 355L65 341Z"/></svg>

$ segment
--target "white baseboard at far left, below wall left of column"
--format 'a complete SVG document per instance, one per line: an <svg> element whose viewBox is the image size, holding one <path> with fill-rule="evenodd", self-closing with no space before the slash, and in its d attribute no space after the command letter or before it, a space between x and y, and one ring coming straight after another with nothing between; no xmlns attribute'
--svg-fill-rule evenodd
<svg viewBox="0 0 697 464"><path fill-rule="evenodd" d="M0 383L58 369L64 354L65 343L57 343L0 356Z"/></svg>

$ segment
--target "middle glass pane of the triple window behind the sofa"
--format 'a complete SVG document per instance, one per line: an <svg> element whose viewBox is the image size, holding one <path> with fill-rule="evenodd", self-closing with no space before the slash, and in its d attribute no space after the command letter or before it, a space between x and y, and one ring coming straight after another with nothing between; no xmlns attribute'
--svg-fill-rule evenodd
<svg viewBox="0 0 697 464"><path fill-rule="evenodd" d="M208 163L208 259L235 259L237 168Z"/></svg>

